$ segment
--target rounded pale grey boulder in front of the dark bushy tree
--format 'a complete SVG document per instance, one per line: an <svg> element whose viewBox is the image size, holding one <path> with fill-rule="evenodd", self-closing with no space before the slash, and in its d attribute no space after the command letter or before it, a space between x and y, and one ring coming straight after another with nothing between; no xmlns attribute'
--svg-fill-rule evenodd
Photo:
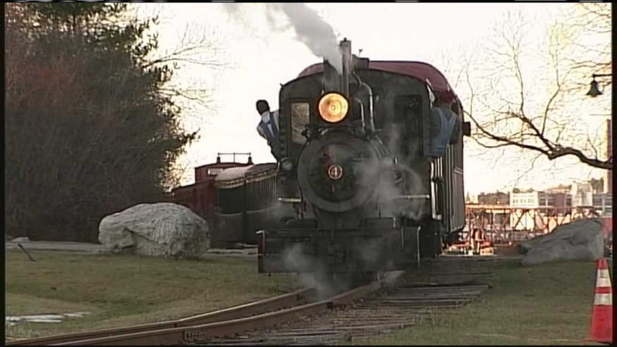
<svg viewBox="0 0 617 347"><path fill-rule="evenodd" d="M112 253L200 257L210 248L210 233L207 222L188 207L139 204L104 217L99 242Z"/></svg>

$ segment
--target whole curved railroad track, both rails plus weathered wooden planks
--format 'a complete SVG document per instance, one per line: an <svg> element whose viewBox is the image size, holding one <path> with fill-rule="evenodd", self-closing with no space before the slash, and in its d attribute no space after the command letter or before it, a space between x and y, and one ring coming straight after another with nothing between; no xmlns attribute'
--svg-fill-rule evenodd
<svg viewBox="0 0 617 347"><path fill-rule="evenodd" d="M317 290L310 288L184 319L29 338L6 345L289 345L349 341L351 337L412 325L423 315L433 315L437 309L469 303L489 288L477 282L492 273L478 272L478 267L470 267L469 262L444 260L436 264L453 272L434 267L434 274L424 274L412 282L399 281L403 283L395 290L392 288L402 271L389 272L377 282L319 301L314 301ZM463 263L467 263L463 265L466 272L460 272ZM459 267L453 269L454 264ZM364 299L354 303L360 298ZM351 303L354 304L350 308L341 309ZM315 319L319 315L321 319ZM269 328L273 326L276 327Z"/></svg>

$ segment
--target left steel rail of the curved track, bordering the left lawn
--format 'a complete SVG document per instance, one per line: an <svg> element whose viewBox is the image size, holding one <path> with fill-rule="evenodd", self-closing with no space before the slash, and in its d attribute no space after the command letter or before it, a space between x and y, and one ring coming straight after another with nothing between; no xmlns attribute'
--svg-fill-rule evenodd
<svg viewBox="0 0 617 347"><path fill-rule="evenodd" d="M251 314L261 314L263 312L293 306L299 302L305 301L312 295L315 295L315 289L307 288L284 295L274 296L273 298L255 301L254 303L242 304L219 311L198 314L196 316L185 317L181 319L166 320L164 322L156 322L149 324L131 325L129 327L123 328L106 328L90 332L68 333L62 335L54 335L50 337L27 338L22 340L8 341L6 342L6 345L24 346L56 345L63 343L70 344L73 343L72 341L90 340L93 338L110 337L112 335L125 335L130 333L147 332L151 330L220 322L222 320L238 319L240 317L250 316Z"/></svg>

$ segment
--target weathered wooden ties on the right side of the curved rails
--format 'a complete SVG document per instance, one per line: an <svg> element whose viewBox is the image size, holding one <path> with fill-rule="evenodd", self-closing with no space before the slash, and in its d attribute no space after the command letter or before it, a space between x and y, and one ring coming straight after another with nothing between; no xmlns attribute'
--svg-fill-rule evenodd
<svg viewBox="0 0 617 347"><path fill-rule="evenodd" d="M354 338L437 321L444 311L471 303L491 285L492 272L432 274L419 281L404 279L396 288L320 317L234 337L209 339L200 345L334 345Z"/></svg>

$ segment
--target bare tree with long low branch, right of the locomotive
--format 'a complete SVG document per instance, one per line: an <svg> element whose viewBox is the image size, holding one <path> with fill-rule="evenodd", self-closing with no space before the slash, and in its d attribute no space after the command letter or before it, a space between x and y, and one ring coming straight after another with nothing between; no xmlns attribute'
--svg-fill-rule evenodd
<svg viewBox="0 0 617 347"><path fill-rule="evenodd" d="M465 112L482 147L526 149L537 153L535 159L574 156L591 167L612 169L613 158L601 159L598 141L576 122L586 111L576 108L584 98L581 81L611 68L610 35L602 36L604 41L581 40L588 32L610 32L610 4L579 5L577 15L569 17L577 24L550 26L543 47L530 46L530 23L521 13L508 12L485 48L487 57L464 67L470 96ZM587 47L586 56L576 54L586 42L601 49ZM586 58L592 53L593 59ZM582 84L589 88L588 83Z"/></svg>

